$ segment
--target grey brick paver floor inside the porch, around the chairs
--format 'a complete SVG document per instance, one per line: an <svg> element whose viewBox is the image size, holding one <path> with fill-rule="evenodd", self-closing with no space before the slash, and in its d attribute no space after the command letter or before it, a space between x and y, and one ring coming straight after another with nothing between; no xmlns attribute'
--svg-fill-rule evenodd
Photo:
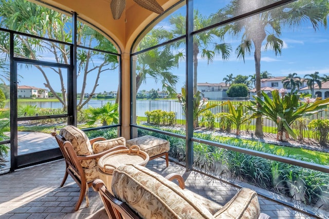
<svg viewBox="0 0 329 219"><path fill-rule="evenodd" d="M147 167L162 175L179 173L186 180L188 189L224 205L238 188L214 180L195 171L186 172L184 167L162 158L150 161ZM64 174L63 160L40 164L0 175L0 218L86 218L93 217L103 208L100 197L89 189L90 205L85 200L80 209L74 211L79 187L69 176L64 187L59 187ZM259 196L261 211L272 218L315 218L277 202ZM95 215L94 218L99 218Z"/></svg>

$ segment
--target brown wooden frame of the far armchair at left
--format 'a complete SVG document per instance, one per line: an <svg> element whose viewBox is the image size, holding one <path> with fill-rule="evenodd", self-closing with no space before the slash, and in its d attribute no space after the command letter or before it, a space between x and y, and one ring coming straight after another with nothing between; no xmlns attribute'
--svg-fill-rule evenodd
<svg viewBox="0 0 329 219"><path fill-rule="evenodd" d="M66 141L63 136L57 134L57 132L52 132L51 135L56 138L56 141L63 153L65 165L66 165L65 174L64 174L64 177L63 177L63 180L62 180L62 183L60 186L63 187L65 181L67 180L67 176L70 175L81 189L78 202L75 206L75 211L77 211L80 208L80 205L83 201L83 197L86 193L86 190L89 187L91 187L93 184L93 182L86 181L86 176L85 176L85 173L81 166L80 161L100 158L101 156L103 156L109 152L127 149L127 148L125 146L116 146L114 148L108 149L101 153L87 155L87 156L78 156L77 153L75 152L73 146L71 145L71 143L69 141ZM105 140L105 138L96 137L96 138L93 138L92 140L89 140L89 142L90 142L90 144L93 145L94 142L103 141L103 140Z"/></svg>

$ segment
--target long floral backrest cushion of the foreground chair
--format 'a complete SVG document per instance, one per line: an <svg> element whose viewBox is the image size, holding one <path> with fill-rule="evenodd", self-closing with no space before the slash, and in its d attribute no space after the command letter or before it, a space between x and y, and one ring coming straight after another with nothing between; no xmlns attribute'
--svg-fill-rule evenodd
<svg viewBox="0 0 329 219"><path fill-rule="evenodd" d="M193 195L142 166L114 170L112 191L142 218L214 218Z"/></svg>

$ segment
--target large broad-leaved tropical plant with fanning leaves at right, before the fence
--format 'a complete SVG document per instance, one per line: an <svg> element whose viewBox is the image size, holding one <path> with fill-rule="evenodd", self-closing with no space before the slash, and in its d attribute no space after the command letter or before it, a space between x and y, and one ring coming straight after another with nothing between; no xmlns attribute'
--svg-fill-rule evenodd
<svg viewBox="0 0 329 219"><path fill-rule="evenodd" d="M281 93L281 97L280 97ZM304 102L299 101L299 95L295 93L285 93L285 90L280 89L271 91L272 98L269 97L264 91L262 96L253 96L255 101L250 101L253 106L247 106L255 113L254 117L265 116L273 121L278 128L277 140L288 141L289 134L297 139L297 136L290 125L302 116L312 115L314 113L324 110L328 103L329 98L304 98ZM257 108L257 104L260 106Z"/></svg>

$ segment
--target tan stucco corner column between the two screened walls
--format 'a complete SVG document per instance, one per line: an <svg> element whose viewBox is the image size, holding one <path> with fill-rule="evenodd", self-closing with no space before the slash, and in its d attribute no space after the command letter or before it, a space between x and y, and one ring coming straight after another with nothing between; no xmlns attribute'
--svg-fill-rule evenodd
<svg viewBox="0 0 329 219"><path fill-rule="evenodd" d="M121 136L130 139L130 53L121 54Z"/></svg>

